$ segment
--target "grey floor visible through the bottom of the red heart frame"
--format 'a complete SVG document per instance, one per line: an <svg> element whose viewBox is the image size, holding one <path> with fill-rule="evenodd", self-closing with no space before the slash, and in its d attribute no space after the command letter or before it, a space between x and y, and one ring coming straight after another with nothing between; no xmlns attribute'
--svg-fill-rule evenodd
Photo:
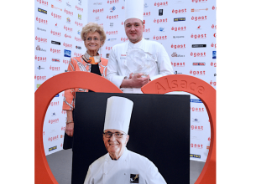
<svg viewBox="0 0 256 184"><path fill-rule="evenodd" d="M63 150L57 151L49 156L46 156L48 164L55 179L60 184L71 184L71 166L72 166L72 151ZM200 175L205 162L191 161L190 184L194 184L197 177Z"/></svg>

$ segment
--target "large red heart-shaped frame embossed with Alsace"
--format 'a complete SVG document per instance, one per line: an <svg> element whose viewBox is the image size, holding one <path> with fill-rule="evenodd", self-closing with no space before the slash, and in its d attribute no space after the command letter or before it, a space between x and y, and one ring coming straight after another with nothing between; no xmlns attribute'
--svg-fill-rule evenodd
<svg viewBox="0 0 256 184"><path fill-rule="evenodd" d="M58 183L44 153L44 115L55 95L71 88L123 93L109 80L81 71L57 74L40 85L34 93L34 183ZM184 74L161 77L142 88L144 94L165 94L177 90L196 95L206 105L211 123L211 145L205 166L195 184L216 183L216 90L205 81Z"/></svg>

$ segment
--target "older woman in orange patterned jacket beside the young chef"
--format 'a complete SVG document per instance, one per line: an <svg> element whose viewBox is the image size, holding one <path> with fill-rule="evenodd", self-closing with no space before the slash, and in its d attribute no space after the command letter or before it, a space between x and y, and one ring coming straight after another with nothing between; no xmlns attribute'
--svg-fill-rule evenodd
<svg viewBox="0 0 256 184"><path fill-rule="evenodd" d="M106 33L102 26L97 23L88 23L81 31L81 39L84 40L86 46L86 54L81 57L71 58L67 71L85 71L94 74L107 76L107 59L102 59L98 54L99 49L105 43ZM63 110L66 110L67 120L65 126L65 138L63 149L72 147L74 132L74 112L76 92L87 92L88 89L66 89L64 94ZM88 92L91 92L89 90ZM67 136L68 135L68 136ZM70 136L70 137L69 137Z"/></svg>

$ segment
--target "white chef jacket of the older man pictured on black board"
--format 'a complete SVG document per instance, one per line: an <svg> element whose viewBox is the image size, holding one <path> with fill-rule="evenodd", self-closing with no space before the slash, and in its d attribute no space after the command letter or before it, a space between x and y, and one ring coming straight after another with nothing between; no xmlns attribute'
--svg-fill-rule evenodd
<svg viewBox="0 0 256 184"><path fill-rule="evenodd" d="M152 161L127 149L118 161L112 160L108 153L94 161L89 166L84 184L130 184L136 175L138 182L134 183L166 184Z"/></svg>

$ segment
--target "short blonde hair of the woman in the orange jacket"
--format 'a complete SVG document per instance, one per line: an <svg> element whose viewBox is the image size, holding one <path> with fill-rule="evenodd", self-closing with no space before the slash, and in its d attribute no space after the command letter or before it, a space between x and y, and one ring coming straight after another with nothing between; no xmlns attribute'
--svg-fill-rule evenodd
<svg viewBox="0 0 256 184"><path fill-rule="evenodd" d="M97 23L87 23L84 28L81 30L81 39L85 40L87 33L99 33L101 35L101 41L103 42L102 45L105 43L106 40L106 33L102 27Z"/></svg>

